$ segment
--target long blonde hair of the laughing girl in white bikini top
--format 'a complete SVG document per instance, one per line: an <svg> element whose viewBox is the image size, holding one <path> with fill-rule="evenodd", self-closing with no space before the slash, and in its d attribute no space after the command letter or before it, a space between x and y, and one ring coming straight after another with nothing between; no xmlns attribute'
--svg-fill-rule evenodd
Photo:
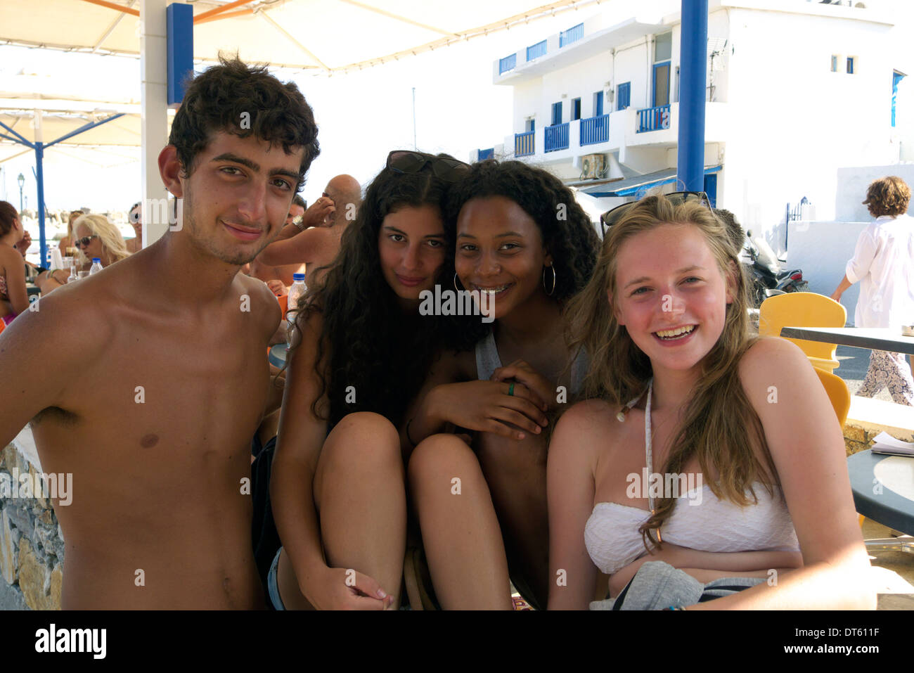
<svg viewBox="0 0 914 673"><path fill-rule="evenodd" d="M762 482L773 497L778 476L759 416L739 380L739 360L755 342L749 337L749 300L739 251L710 208L697 201L675 205L662 195L651 196L632 204L607 231L590 283L566 309L572 352L582 346L590 354L584 397L601 398L619 408L643 394L653 376L650 359L613 315L607 291L613 297L617 294L616 262L622 243L668 223L692 225L702 232L728 287L734 291L734 299L727 306L717 344L701 362L701 376L689 395L660 474L682 474L696 456L704 475L718 475L717 480L707 479L714 495L746 506L758 502L751 487L754 482ZM753 447L764 456L764 467ZM672 515L674 507L672 497L656 502L654 515L639 529L645 547L648 541L659 546L653 531Z"/></svg>

